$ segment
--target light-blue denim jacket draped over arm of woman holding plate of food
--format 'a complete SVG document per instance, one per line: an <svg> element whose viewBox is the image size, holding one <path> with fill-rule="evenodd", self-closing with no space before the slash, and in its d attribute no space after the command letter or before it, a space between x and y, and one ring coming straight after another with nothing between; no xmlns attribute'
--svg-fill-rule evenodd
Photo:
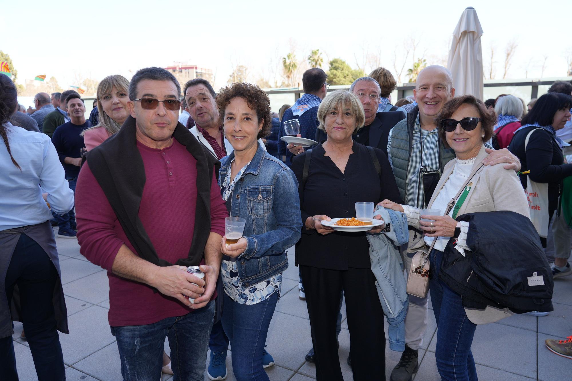
<svg viewBox="0 0 572 381"><path fill-rule="evenodd" d="M377 209L374 214L381 215L386 224L391 224L390 232L366 236L370 243L371 271L375 275L379 301L389 323L387 334L390 349L402 352L405 350L405 316L409 297L398 248L409 241L407 216L385 208Z"/></svg>

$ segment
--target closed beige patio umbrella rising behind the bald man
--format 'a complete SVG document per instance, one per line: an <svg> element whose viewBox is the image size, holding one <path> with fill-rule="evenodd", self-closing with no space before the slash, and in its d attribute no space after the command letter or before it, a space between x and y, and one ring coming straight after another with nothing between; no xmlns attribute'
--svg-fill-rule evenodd
<svg viewBox="0 0 572 381"><path fill-rule="evenodd" d="M455 30L447 68L453 76L455 96L471 94L483 100L483 49L479 17L473 7L463 11Z"/></svg>

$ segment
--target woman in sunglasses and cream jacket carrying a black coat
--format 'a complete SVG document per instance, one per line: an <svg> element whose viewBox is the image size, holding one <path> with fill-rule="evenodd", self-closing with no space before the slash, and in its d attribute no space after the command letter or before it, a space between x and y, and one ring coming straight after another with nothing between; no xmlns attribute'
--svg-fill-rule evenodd
<svg viewBox="0 0 572 381"><path fill-rule="evenodd" d="M467 95L444 104L436 120L439 137L445 146L455 151L456 160L445 165L428 208L439 209L443 214L447 203L460 189L468 191L463 190L455 208L447 216L419 216L419 209L388 200L382 201L382 205L406 213L408 223L425 232L424 244L431 245L436 240L430 255L430 291L438 327L435 352L437 368L443 380L473 381L477 376L471 343L476 324L496 322L510 316L511 312L505 313L503 309L492 307L466 310L462 297L439 279L443 251L450 237L457 238L460 252L470 250L466 245L468 223L458 222L454 217L492 211L514 211L528 217L529 209L513 170L505 169L502 165L481 165L487 156L483 143L491 137L496 121L492 110L487 110L482 101ZM464 187L467 180L470 182ZM419 217L432 221L420 221Z"/></svg>

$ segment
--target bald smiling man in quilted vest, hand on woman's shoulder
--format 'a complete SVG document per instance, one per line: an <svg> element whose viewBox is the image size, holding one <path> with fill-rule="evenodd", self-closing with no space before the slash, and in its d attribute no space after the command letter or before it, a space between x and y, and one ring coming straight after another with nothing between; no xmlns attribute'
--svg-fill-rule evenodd
<svg viewBox="0 0 572 381"><path fill-rule="evenodd" d="M406 205L426 208L439 180L442 169L448 161L455 158L450 148L444 148L439 141L438 126L435 117L443 105L455 96L451 72L443 66L431 65L421 70L413 90L417 106L390 131L387 153L394 170L400 196ZM507 149L492 150L490 142L489 156L485 165L506 163L506 169L520 169L518 158ZM406 208L406 213L408 209ZM422 232L410 227L410 244L419 240ZM413 255L402 247L404 268L411 267ZM409 296L409 307L405 318L406 348L399 363L391 372L391 381L411 380L417 371L418 351L427 328L427 297L421 299Z"/></svg>

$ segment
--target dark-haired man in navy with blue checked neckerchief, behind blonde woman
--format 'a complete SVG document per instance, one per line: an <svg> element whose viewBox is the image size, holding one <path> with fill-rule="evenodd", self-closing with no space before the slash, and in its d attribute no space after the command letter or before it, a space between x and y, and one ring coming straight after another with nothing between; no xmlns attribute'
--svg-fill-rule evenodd
<svg viewBox="0 0 572 381"><path fill-rule="evenodd" d="M292 157L304 152L304 148L293 144L285 144L281 137L286 136L284 122L297 119L300 123L300 136L307 139L315 139L317 126L319 125L317 112L321 101L325 98L329 85L325 82L328 76L320 68L308 69L302 76L304 95L294 105L287 109L280 121L278 134L278 156L286 165L292 164Z"/></svg>

